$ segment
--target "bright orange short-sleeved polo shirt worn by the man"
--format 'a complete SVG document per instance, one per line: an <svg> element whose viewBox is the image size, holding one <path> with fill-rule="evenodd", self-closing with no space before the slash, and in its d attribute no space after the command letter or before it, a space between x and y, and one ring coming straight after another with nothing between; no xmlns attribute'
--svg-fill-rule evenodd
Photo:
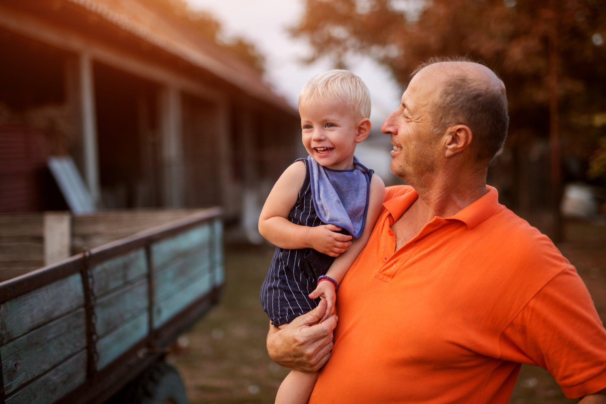
<svg viewBox="0 0 606 404"><path fill-rule="evenodd" d="M503 403L520 363L567 397L606 388L606 331L547 236L496 189L431 220L395 251L390 227L418 198L389 187L338 293L335 348L310 403Z"/></svg>

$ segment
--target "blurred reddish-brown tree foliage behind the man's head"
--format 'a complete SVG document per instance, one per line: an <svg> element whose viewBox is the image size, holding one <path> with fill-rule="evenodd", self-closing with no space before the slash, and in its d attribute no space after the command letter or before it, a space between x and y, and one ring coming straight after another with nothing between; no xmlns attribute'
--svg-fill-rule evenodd
<svg viewBox="0 0 606 404"><path fill-rule="evenodd" d="M309 61L336 65L359 54L388 67L404 88L419 62L468 55L505 82L509 148L547 138L551 34L558 44L559 111L565 158L588 161L606 137L606 5L603 0L307 0L292 28ZM603 143L603 142L602 142ZM595 172L593 173L596 174ZM602 172L601 175L604 175Z"/></svg>

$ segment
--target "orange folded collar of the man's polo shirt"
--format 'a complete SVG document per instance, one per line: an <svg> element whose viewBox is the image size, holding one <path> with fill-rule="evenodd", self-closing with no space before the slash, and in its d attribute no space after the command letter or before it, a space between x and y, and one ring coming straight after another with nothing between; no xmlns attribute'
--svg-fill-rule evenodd
<svg viewBox="0 0 606 404"><path fill-rule="evenodd" d="M486 189L488 191L487 194L458 213L445 218L445 220L462 221L467 226L467 229L473 229L490 217L499 206L499 193L496 191L496 188L489 185L486 186ZM410 187L405 194L385 201L383 206L391 213L391 217L393 217L393 221L395 222L418 198L419 194L417 194L415 189Z"/></svg>

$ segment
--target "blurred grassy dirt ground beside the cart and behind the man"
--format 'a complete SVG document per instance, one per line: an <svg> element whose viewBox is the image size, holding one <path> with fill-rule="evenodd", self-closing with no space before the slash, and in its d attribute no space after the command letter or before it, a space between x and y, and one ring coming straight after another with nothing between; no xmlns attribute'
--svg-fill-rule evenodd
<svg viewBox="0 0 606 404"><path fill-rule="evenodd" d="M606 320L606 226L569 222L558 244L587 284L602 322ZM191 404L273 403L288 370L265 350L268 320L259 288L273 250L227 246L227 284L222 302L186 334L188 352L176 359ZM539 367L522 367L511 404L561 404L568 400Z"/></svg>

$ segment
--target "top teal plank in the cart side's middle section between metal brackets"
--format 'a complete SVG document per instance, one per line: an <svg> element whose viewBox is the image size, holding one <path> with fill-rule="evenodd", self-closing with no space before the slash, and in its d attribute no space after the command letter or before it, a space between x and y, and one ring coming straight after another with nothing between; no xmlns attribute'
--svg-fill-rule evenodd
<svg viewBox="0 0 606 404"><path fill-rule="evenodd" d="M101 262L92 269L95 295L99 298L128 282L145 276L146 273L147 261L144 249Z"/></svg>

